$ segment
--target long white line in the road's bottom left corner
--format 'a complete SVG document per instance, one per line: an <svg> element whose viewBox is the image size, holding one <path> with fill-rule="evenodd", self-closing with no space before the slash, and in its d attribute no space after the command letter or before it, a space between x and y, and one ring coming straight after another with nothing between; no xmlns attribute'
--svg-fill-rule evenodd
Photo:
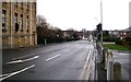
<svg viewBox="0 0 131 82"><path fill-rule="evenodd" d="M4 79L8 79L8 78L10 78L10 77L12 77L12 75L19 74L19 73L21 73L21 72L24 72L24 71L26 71L26 70L28 70L28 69L31 69L31 68L33 68L33 67L35 67L35 65L29 66L29 67L27 67L27 68L24 68L24 69L22 69L22 70L20 70L20 71L13 72L13 73L2 74L2 77L4 77L4 75L7 75L7 77L0 78L0 81L2 81L2 80L4 80Z"/></svg>

